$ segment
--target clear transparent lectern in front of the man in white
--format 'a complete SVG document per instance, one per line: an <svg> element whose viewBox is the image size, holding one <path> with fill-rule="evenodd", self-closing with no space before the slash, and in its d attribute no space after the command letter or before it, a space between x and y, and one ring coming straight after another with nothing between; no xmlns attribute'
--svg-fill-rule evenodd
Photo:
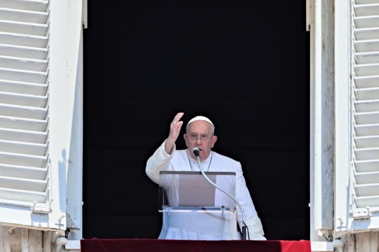
<svg viewBox="0 0 379 252"><path fill-rule="evenodd" d="M206 172L213 183L234 196L234 172ZM176 239L174 231L201 233L213 240L240 240L236 204L211 185L201 172L161 171L158 211L162 229L158 239Z"/></svg>

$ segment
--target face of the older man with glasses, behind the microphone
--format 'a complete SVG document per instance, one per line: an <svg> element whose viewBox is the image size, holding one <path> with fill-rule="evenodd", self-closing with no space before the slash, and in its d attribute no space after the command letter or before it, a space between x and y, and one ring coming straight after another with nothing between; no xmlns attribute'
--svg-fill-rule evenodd
<svg viewBox="0 0 379 252"><path fill-rule="evenodd" d="M194 121L189 124L187 134L184 134L184 140L189 150L191 158L196 159L193 154L193 148L199 148L200 160L204 161L209 157L211 148L217 141L217 136L211 134L211 125L205 121Z"/></svg>

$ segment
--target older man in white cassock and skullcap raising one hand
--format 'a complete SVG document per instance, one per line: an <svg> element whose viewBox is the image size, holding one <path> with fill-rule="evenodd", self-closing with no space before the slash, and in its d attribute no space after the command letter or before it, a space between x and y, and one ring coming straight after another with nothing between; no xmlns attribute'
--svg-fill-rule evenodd
<svg viewBox="0 0 379 252"><path fill-rule="evenodd" d="M186 150L176 150L175 142L180 134L183 121L180 121L184 113L178 113L170 124L170 132L162 145L148 159L146 165L146 174L149 178L159 184L160 171L200 171L199 164L192 150L199 149L199 158L201 167L205 172L235 172L235 195L245 212L245 224L250 240L266 240L261 220L255 210L250 192L246 187L245 179L242 175L241 163L213 152L211 149L217 141L214 135L215 126L206 117L197 116L192 118L186 128L184 139L186 141ZM243 216L237 207L237 221L242 230ZM204 215L204 218L177 218L171 220L170 226L164 237L162 233L160 239L177 239L177 240L236 240L241 239L241 234L226 234L218 228L212 228L212 225L204 223L213 223L217 226L217 218ZM237 228L237 227L235 227Z"/></svg>

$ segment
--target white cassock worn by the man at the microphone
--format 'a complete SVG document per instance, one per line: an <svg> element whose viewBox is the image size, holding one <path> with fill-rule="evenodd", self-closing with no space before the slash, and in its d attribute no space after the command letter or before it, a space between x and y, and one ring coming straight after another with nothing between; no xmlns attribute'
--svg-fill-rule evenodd
<svg viewBox="0 0 379 252"><path fill-rule="evenodd" d="M166 153L164 149L165 142L154 152L154 154L148 159L146 164L146 174L149 178L159 184L159 172L160 171L200 171L199 165L196 160L189 158L188 150L176 150L174 145L172 152ZM220 155L216 152L211 152L211 155L201 163L204 171L217 171L217 172L235 172L235 195L234 197L239 201L245 211L245 223L248 227L250 240L266 240L262 227L261 220L255 210L253 200L251 199L250 192L246 187L245 179L242 175L241 163ZM177 240L231 240L240 239L238 237L230 237L223 235L223 232L209 230L210 225L204 225L204 223L212 220L186 220L178 221L177 224L170 225L169 230L164 239L177 239ZM240 226L242 225L242 213L237 207L237 221ZM217 225L217 223L215 223ZM189 228L187 228L190 226ZM248 239L248 235L246 235Z"/></svg>

